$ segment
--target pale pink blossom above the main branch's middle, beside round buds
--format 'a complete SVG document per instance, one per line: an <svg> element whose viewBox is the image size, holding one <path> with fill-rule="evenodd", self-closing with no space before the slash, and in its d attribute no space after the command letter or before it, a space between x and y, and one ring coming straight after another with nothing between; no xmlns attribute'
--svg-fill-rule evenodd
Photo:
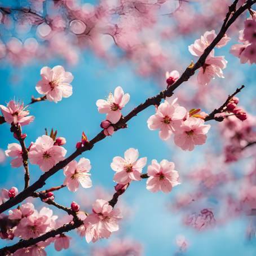
<svg viewBox="0 0 256 256"><path fill-rule="evenodd" d="M97 100L96 105L99 113L107 114L107 120L116 123L120 120L122 113L121 109L130 100L129 94L124 94L121 86L114 89L114 95L110 93L107 100Z"/></svg>

